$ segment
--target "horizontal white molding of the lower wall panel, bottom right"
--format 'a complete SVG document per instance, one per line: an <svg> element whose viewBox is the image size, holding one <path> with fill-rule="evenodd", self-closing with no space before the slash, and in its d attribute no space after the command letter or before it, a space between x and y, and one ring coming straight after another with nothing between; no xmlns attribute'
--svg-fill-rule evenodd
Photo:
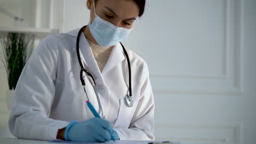
<svg viewBox="0 0 256 144"><path fill-rule="evenodd" d="M182 143L240 144L242 123L222 124L155 124L157 140L178 140Z"/></svg>

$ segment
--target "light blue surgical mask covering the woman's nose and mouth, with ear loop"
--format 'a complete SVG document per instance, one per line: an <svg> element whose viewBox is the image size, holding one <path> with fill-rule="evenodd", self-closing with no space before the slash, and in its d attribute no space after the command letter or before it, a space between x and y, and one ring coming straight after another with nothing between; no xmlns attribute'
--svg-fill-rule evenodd
<svg viewBox="0 0 256 144"><path fill-rule="evenodd" d="M119 43L119 41L127 38L132 30L132 28L128 29L123 27L117 27L112 23L101 19L100 16L96 15L96 11L94 21L92 23L91 21L89 22L89 29L92 37L94 37L97 43L101 46L113 46Z"/></svg>

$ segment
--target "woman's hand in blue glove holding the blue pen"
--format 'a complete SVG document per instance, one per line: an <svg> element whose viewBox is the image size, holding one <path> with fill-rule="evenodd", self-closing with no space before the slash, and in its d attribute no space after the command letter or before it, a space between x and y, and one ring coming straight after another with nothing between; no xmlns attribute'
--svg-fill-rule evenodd
<svg viewBox="0 0 256 144"><path fill-rule="evenodd" d="M111 140L111 135L115 140L119 140L119 136L113 130L111 123L97 117L75 123L66 129L65 133L67 133L67 138L70 141L106 142Z"/></svg>

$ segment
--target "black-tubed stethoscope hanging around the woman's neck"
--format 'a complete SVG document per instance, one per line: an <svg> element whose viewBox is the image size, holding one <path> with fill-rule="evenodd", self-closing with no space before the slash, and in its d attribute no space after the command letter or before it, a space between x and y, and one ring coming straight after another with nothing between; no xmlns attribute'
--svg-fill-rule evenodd
<svg viewBox="0 0 256 144"><path fill-rule="evenodd" d="M84 81L84 76L83 76L83 73L87 74L88 75L88 78L89 80L91 81L91 84L92 86L94 87L94 92L96 94L96 97L97 97L97 100L98 100L98 104L100 105L100 109L101 109L101 113L102 113L102 117L104 116L103 115L103 109L102 109L102 105L101 105L101 100L100 98L98 97L98 92L96 90L96 83L95 83L95 80L94 80L94 77L91 75L91 73L86 70L82 64L82 61L81 61L81 58L80 58L80 53L79 53L79 39L80 39L80 35L81 33L84 31L86 26L83 26L79 32L78 32L78 35L77 35L77 57L78 57L78 61L79 61L79 64L81 66L81 71L80 71L80 80L82 82L82 85L84 87L84 92L89 100L89 97L88 97L88 93L86 92L86 88L85 88L85 81ZM129 68L129 95L126 94L125 95L125 103L127 106L129 107L132 107L133 106L133 98L132 98L132 89L131 89L131 65L130 65L130 59L129 59L129 56L125 50L125 47L124 45L120 42L121 46L123 47L123 50L124 50L124 53L125 53L125 56L126 56L126 59L127 59L127 63L128 63L128 68Z"/></svg>

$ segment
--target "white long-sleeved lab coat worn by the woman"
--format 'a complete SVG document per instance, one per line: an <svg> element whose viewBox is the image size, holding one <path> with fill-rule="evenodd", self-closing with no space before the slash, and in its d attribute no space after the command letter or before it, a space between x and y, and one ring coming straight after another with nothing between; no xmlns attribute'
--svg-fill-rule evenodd
<svg viewBox="0 0 256 144"><path fill-rule="evenodd" d="M15 89L9 118L11 133L19 138L55 140L57 131L71 121L94 117L80 82L76 52L79 29L50 35L33 52ZM154 140L154 99L146 62L129 49L133 107L124 103L129 88L127 61L120 44L113 47L102 73L90 45L80 35L80 56L96 81L104 116L120 140ZM85 77L89 100L100 112L95 92ZM112 101L111 101L112 100ZM101 112L100 112L101 115Z"/></svg>

